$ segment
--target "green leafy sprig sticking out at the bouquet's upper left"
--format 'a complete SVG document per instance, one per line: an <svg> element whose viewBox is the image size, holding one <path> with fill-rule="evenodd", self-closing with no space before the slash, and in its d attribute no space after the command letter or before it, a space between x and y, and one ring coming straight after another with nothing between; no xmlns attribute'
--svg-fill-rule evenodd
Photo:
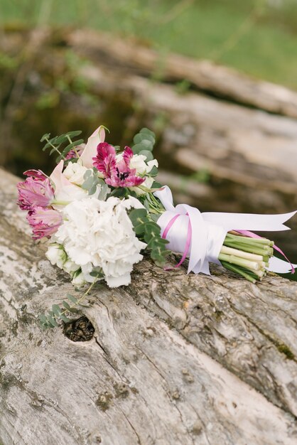
<svg viewBox="0 0 297 445"><path fill-rule="evenodd" d="M72 138L79 136L82 132L69 132L61 134L60 136L55 136L50 139L50 133L43 134L41 142L46 141L43 146L43 151L47 149L50 150L50 155L53 153L58 153L58 158L55 160L59 163L62 159L66 159L70 150L75 150L75 147L83 143L83 139L78 139L77 141L72 141ZM67 144L67 145L66 145Z"/></svg>

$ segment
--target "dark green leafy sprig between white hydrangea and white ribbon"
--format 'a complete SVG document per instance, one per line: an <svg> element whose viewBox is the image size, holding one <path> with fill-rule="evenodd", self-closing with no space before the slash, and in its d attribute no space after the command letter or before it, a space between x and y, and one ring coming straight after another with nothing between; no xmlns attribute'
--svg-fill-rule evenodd
<svg viewBox="0 0 297 445"><path fill-rule="evenodd" d="M166 255L169 251L166 249L167 240L161 238L161 229L155 223L146 209L134 209L129 213L129 218L134 227L134 232L147 244L150 250L151 259L158 266L163 266Z"/></svg>

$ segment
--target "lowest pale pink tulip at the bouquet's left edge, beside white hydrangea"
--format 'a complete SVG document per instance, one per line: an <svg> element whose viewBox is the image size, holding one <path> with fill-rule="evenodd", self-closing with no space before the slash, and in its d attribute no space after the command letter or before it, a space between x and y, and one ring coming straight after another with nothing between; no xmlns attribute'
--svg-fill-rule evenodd
<svg viewBox="0 0 297 445"><path fill-rule="evenodd" d="M33 230L33 239L50 238L62 224L62 216L51 208L35 207L27 215L28 223Z"/></svg>

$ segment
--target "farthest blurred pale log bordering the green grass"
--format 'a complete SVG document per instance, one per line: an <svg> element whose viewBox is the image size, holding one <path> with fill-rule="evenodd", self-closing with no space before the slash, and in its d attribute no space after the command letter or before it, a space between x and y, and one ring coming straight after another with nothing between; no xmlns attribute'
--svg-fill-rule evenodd
<svg viewBox="0 0 297 445"><path fill-rule="evenodd" d="M188 80L194 89L230 102L297 117L296 92L271 82L252 79L210 60L193 60L177 54L160 55L131 39L123 40L109 33L85 29L65 34L65 41L83 57L97 63L109 61L113 68L128 68L134 74L146 77L155 75L166 82Z"/></svg>

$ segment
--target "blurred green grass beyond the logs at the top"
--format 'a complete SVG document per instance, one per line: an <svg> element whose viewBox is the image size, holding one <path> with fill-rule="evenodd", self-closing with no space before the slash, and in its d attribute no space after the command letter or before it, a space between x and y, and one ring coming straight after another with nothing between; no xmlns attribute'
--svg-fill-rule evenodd
<svg viewBox="0 0 297 445"><path fill-rule="evenodd" d="M134 36L297 90L296 0L1 0L0 23Z"/></svg>

